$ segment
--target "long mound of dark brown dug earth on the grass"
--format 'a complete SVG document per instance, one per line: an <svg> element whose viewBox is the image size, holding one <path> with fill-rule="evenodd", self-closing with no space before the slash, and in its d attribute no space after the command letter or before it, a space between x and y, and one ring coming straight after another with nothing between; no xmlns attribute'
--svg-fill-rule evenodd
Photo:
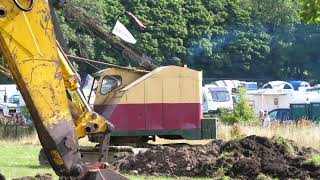
<svg viewBox="0 0 320 180"><path fill-rule="evenodd" d="M278 178L320 177L320 167L305 160L316 150L300 148L282 138L248 136L241 140L215 140L204 146L155 146L129 156L117 168L144 175L200 176L248 179L265 174Z"/></svg>

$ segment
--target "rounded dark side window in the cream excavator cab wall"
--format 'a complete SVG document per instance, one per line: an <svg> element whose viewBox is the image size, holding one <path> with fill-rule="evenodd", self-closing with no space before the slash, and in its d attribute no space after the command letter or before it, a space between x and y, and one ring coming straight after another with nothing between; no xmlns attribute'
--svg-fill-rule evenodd
<svg viewBox="0 0 320 180"><path fill-rule="evenodd" d="M100 93L105 95L110 91L119 87L122 83L121 76L112 75L112 76L105 76L101 83Z"/></svg>

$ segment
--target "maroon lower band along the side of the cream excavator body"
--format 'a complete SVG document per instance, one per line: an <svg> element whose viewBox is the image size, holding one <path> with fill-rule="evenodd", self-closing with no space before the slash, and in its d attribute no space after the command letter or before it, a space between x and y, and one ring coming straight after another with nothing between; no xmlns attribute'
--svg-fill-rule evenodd
<svg viewBox="0 0 320 180"><path fill-rule="evenodd" d="M201 127L199 103L96 105L116 130L169 130Z"/></svg>

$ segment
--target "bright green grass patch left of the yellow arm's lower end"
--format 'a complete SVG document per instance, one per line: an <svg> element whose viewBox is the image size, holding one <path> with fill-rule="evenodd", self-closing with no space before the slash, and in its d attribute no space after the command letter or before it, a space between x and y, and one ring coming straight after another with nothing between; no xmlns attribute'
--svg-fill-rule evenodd
<svg viewBox="0 0 320 180"><path fill-rule="evenodd" d="M51 173L50 167L38 163L39 145L3 145L0 146L0 173L7 179L21 176Z"/></svg>

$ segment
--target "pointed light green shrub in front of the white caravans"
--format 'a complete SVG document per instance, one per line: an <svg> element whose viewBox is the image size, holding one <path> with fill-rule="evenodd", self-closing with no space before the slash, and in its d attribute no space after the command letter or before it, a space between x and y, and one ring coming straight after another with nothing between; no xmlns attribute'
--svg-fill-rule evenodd
<svg viewBox="0 0 320 180"><path fill-rule="evenodd" d="M249 100L244 88L239 89L239 102L237 102L233 111L221 111L221 122L225 124L235 123L261 123L259 117L255 114L253 108L249 104Z"/></svg>

